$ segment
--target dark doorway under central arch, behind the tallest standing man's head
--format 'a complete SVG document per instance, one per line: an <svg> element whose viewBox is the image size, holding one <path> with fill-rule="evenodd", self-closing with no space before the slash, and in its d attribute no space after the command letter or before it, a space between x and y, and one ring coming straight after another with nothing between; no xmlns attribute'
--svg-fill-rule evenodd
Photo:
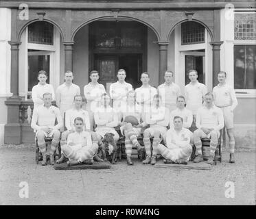
<svg viewBox="0 0 256 219"><path fill-rule="evenodd" d="M126 82L135 89L139 87L142 72L142 54L95 55L95 66L100 73L100 83L108 88L109 83L117 81L117 70L126 70Z"/></svg>

